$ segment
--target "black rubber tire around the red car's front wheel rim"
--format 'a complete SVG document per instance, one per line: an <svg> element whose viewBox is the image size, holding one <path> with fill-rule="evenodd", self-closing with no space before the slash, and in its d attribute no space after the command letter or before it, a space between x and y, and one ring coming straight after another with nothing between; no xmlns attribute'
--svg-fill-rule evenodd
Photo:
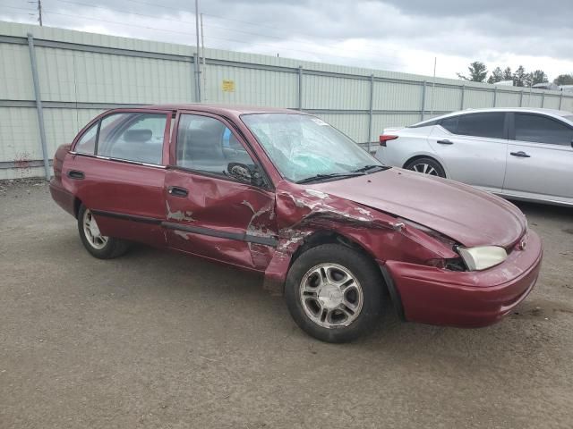
<svg viewBox="0 0 573 429"><path fill-rule="evenodd" d="M304 285L302 282L307 273L311 273L313 269L323 264L342 266L355 277L362 289L362 308L355 312L357 313L353 315L355 319L346 326L322 326L312 320L311 316L307 315L307 310L304 309L304 306L309 308L307 304L309 301L303 303L301 288ZM353 341L371 331L381 315L382 301L385 296L383 291L384 282L380 269L372 259L352 248L338 244L324 244L310 248L295 260L286 275L286 305L295 323L312 337L326 342ZM312 300L320 302L318 298L311 298L311 303ZM322 307L320 308L318 311L322 312ZM335 308L335 311L338 310Z"/></svg>

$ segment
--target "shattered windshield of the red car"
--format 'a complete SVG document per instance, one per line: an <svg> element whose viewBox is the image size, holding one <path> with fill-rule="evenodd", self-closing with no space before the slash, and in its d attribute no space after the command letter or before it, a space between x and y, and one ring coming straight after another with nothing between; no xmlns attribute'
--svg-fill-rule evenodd
<svg viewBox="0 0 573 429"><path fill-rule="evenodd" d="M382 165L353 140L306 114L243 114L243 122L288 181Z"/></svg>

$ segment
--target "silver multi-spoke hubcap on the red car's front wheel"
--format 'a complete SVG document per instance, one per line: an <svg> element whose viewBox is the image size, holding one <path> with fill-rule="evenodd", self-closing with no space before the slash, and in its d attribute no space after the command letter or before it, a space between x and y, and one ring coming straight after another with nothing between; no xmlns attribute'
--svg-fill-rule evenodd
<svg viewBox="0 0 573 429"><path fill-rule="evenodd" d="M355 275L338 264L313 266L300 285L304 313L325 328L348 326L360 315L363 290Z"/></svg>

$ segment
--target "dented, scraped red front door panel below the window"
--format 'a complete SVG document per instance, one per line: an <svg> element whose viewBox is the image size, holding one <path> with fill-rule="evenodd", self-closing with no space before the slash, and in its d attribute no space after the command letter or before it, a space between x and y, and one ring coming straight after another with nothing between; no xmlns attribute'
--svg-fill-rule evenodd
<svg viewBox="0 0 573 429"><path fill-rule="evenodd" d="M192 172L166 175L170 248L261 271L276 247L274 194Z"/></svg>

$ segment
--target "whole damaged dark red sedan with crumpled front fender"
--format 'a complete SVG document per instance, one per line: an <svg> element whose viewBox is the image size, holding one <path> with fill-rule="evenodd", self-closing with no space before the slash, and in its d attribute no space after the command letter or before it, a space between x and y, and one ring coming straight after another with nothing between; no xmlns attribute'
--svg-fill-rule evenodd
<svg viewBox="0 0 573 429"><path fill-rule="evenodd" d="M407 321L493 324L542 260L508 201L390 168L285 109L111 110L58 148L54 170L52 197L94 257L136 241L263 273L322 341L368 331L387 299Z"/></svg>

